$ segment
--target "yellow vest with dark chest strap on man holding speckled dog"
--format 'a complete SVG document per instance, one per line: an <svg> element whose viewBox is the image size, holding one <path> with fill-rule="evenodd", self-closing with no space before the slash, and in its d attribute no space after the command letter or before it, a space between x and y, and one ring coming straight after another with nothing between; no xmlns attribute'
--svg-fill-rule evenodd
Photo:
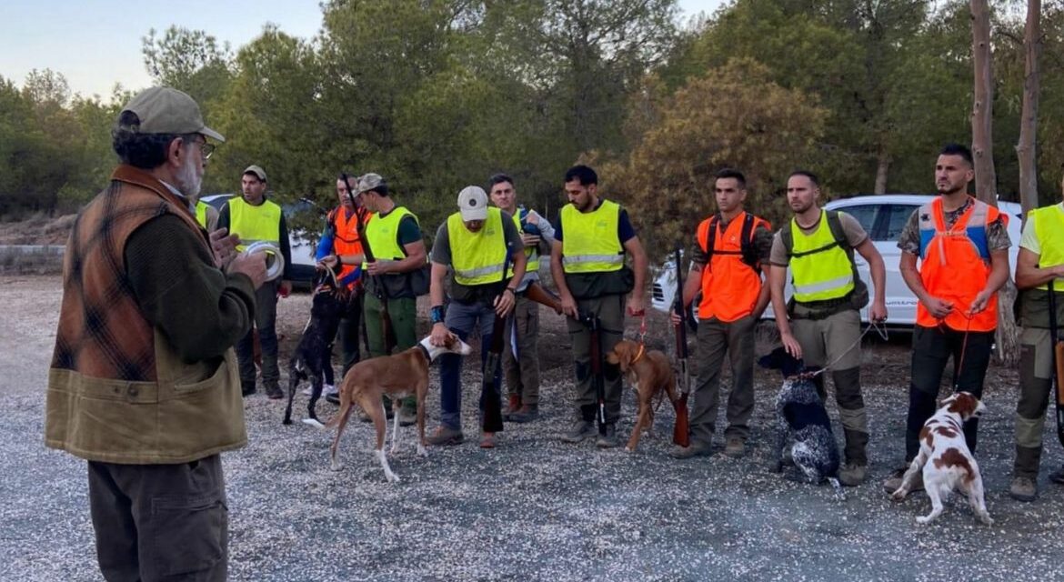
<svg viewBox="0 0 1064 582"><path fill-rule="evenodd" d="M794 240L791 271L796 301L839 299L853 290L853 265L846 249L835 242L826 211L820 211L820 221L809 235L792 218L791 236Z"/></svg>

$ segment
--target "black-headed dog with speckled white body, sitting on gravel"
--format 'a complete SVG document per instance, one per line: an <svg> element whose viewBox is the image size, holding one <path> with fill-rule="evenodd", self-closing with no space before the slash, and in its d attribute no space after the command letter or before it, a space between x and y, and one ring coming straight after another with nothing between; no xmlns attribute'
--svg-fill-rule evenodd
<svg viewBox="0 0 1064 582"><path fill-rule="evenodd" d="M763 356L760 364L783 373L783 386L776 399L772 471L783 470L783 449L791 440L791 456L795 466L810 483L819 484L828 480L835 489L835 496L845 499L838 482L838 446L814 381L813 375L817 369L807 368L801 360L796 360L782 347Z"/></svg>

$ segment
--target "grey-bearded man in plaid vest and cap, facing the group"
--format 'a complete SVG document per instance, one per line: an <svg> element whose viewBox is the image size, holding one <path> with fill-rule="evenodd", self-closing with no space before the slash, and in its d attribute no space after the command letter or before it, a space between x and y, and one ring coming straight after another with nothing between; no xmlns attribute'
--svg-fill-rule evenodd
<svg viewBox="0 0 1064 582"><path fill-rule="evenodd" d="M265 257L196 222L207 138L223 138L190 97L147 89L112 136L121 164L66 246L45 443L88 461L104 579L225 580L219 453L247 443L233 345Z"/></svg>

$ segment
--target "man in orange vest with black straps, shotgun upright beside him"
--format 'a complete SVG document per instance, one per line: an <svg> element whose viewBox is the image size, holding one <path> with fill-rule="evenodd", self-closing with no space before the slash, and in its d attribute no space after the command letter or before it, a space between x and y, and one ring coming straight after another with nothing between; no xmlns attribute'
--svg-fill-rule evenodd
<svg viewBox="0 0 1064 582"><path fill-rule="evenodd" d="M769 299L762 276L767 277L771 226L744 210L743 172L720 170L714 190L718 213L698 227L692 272L683 288L685 310L701 292L696 340L700 369L691 412L691 446L672 449L670 454L677 459L710 454L726 352L732 365L732 389L725 453L741 456L745 452L753 413L753 328ZM684 325L676 314L672 317L675 325Z"/></svg>

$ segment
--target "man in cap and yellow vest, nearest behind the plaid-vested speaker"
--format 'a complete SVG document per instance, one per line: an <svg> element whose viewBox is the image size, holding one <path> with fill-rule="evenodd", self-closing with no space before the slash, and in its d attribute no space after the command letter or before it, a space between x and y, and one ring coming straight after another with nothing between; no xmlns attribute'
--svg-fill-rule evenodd
<svg viewBox="0 0 1064 582"><path fill-rule="evenodd" d="M255 330L262 347L263 388L271 400L284 397L281 392L281 370L277 365L277 296L287 297L292 292L292 250L288 244L288 227L284 222L281 206L266 199L266 171L259 166L248 166L240 177L240 192L226 202L218 213L218 228L240 238L236 250L243 251L251 243L265 240L281 249L284 257L284 272L280 281L267 281L255 292ZM254 332L236 344L236 355L240 361L240 384L244 396L255 392Z"/></svg>

